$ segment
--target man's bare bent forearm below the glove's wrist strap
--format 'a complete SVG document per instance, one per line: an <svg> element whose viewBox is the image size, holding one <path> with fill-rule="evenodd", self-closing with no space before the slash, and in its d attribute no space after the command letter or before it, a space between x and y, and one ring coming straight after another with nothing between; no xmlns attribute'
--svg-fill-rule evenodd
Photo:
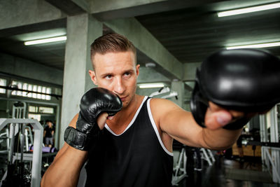
<svg viewBox="0 0 280 187"><path fill-rule="evenodd" d="M78 115L69 126L75 127ZM77 186L80 169L87 159L87 151L80 151L64 143L50 167L43 175L41 186Z"/></svg>

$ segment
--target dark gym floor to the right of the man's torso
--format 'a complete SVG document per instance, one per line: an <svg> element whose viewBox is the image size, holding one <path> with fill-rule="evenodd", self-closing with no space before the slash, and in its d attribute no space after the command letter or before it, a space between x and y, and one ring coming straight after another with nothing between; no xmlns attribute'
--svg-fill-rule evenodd
<svg viewBox="0 0 280 187"><path fill-rule="evenodd" d="M201 172L190 170L179 187L279 187L268 172L262 172L260 160L245 158L245 162L216 158L212 166L204 166Z"/></svg>

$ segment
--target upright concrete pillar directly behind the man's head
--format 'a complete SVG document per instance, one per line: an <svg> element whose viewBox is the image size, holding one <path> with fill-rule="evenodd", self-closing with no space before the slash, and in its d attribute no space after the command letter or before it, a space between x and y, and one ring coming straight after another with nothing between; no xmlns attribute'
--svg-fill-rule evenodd
<svg viewBox="0 0 280 187"><path fill-rule="evenodd" d="M91 15L85 13L67 18L60 148L64 144L64 130L79 111L80 97L94 87L88 75L88 70L92 69L90 44L99 36L102 36L102 23Z"/></svg>

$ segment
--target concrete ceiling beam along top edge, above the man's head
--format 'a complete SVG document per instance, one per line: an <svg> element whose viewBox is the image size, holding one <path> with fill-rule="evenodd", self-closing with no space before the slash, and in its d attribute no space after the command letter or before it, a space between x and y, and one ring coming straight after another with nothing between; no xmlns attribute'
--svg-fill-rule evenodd
<svg viewBox="0 0 280 187"><path fill-rule="evenodd" d="M105 21L118 18L130 18L138 15L174 11L181 8L202 6L224 0L91 0L90 13L97 20Z"/></svg>

